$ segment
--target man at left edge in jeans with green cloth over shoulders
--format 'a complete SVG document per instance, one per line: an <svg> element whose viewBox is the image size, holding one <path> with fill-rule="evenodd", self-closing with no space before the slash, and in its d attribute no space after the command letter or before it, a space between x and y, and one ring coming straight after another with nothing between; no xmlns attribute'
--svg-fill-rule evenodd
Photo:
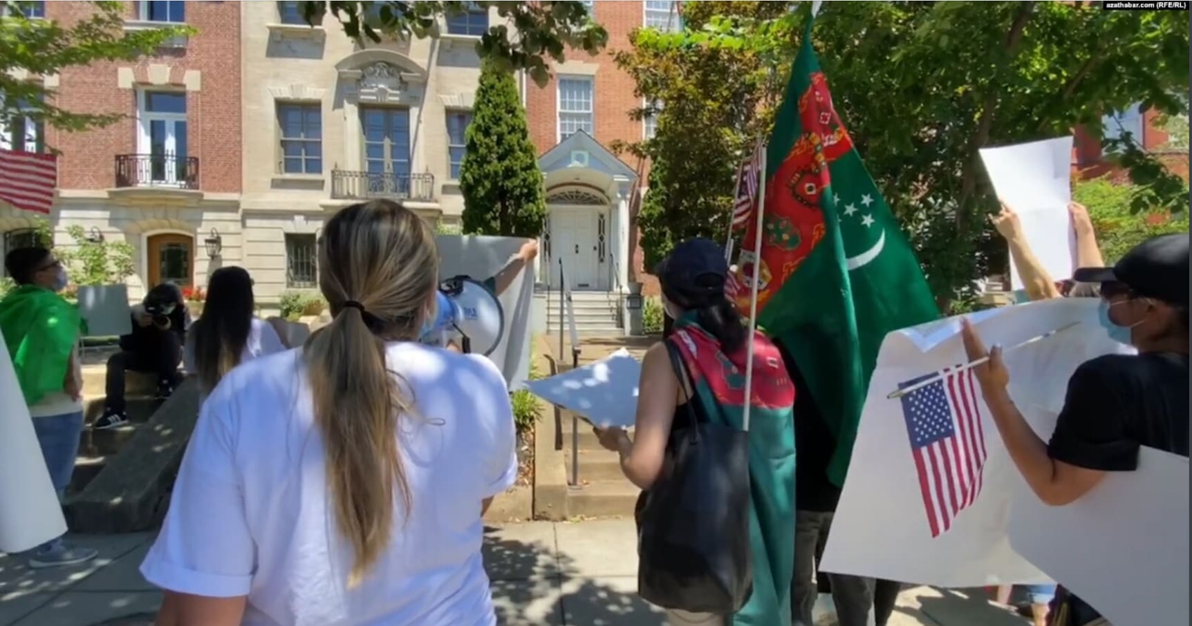
<svg viewBox="0 0 1192 626"><path fill-rule="evenodd" d="M0 332L17 382L33 418L37 443L61 499L70 484L82 432L82 371L79 363L79 309L58 292L66 270L44 248L20 248L5 257L17 288L0 301ZM74 565L95 558L89 547L54 539L29 555L35 569Z"/></svg>

